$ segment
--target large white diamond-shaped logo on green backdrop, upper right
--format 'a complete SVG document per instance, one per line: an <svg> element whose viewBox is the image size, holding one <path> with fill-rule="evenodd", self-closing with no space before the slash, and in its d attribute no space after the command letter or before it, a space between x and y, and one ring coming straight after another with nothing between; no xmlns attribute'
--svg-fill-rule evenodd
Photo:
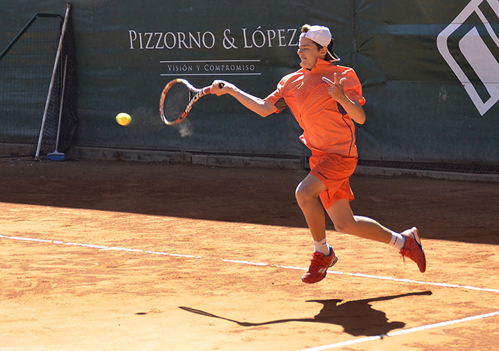
<svg viewBox="0 0 499 351"><path fill-rule="evenodd" d="M484 84L485 88L490 95L486 101L482 100L473 86L472 82L469 81L465 72L457 64L455 58L450 54L447 40L448 38L469 18L471 15L476 14L480 20L484 23L484 26L491 36L491 39L495 45L499 46L499 38L495 34L491 23L488 22L484 13L480 10L479 6L483 2L488 2L496 15L499 16L499 0L472 0L469 4L462 10L462 12L457 15L450 25L446 27L438 37L436 38L436 45L438 51L441 53L443 58L446 60L450 68L453 70L457 79L460 80L463 87L465 87L469 97L472 99L476 109L483 116L492 106L499 101L499 63L498 60L493 56L490 49L488 49L484 40L481 39L480 34L476 27L473 27L464 37L460 39L459 49L462 55L466 58L469 65L473 68L476 75L479 77L481 82Z"/></svg>

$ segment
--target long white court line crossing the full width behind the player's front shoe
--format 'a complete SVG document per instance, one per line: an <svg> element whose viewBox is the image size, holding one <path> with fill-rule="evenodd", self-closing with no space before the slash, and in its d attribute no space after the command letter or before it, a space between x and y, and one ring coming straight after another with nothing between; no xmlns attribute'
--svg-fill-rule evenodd
<svg viewBox="0 0 499 351"><path fill-rule="evenodd" d="M165 256L172 256L172 257L185 257L185 258L195 258L195 259L205 259L205 260L219 260L219 259L213 258L213 257L181 255L181 254L177 254L177 253L163 253L163 252L156 252L156 251L149 251L149 250L144 251L144 250L140 250L140 249L117 248L114 246L108 247L108 246L102 246L102 245L90 245L90 244L82 244L82 243L64 243L63 241L51 241L51 240L36 239L36 238L23 238L20 236L0 235L0 238L6 238L6 239L11 239L11 240L17 240L17 241L34 241L34 242L39 242L39 243L54 243L54 244L58 244L58 245L75 245L75 246L82 246L84 248L98 248L101 251L125 251L125 252L132 252L132 253L149 253L151 255L165 255ZM302 267L282 266L279 264L267 264L267 263L261 263L261 262L259 263L259 262L248 262L248 261L228 260L228 259L222 259L222 261L236 263L236 264L250 264L253 266L262 266L262 267L268 266L268 267L276 267L276 268L284 268L284 269L296 269L296 270L301 270L301 271L307 270L306 268L302 268ZM499 293L499 289L478 288L476 286L464 286L464 285L449 284L449 283L416 281L416 280L412 280L412 279L392 278L389 276L372 276L369 274L348 273L348 272L329 271L329 270L327 272L329 274L345 274L347 276L358 276L360 278L367 278L367 279L381 279L381 280L387 280L387 281L396 281L397 283L411 283L411 284L427 285L427 286L441 286L443 288L459 288L459 289L474 290L474 291L486 291L488 293Z"/></svg>

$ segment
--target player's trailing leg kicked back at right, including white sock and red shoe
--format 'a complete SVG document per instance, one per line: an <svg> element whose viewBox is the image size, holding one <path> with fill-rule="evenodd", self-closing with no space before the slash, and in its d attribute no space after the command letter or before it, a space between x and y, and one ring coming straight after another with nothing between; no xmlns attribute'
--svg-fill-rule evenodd
<svg viewBox="0 0 499 351"><path fill-rule="evenodd" d="M398 234L374 219L354 216L348 200L337 200L327 209L327 214L331 217L337 231L392 245L400 250L400 255L416 262L419 271L425 272L426 257L419 232L415 227Z"/></svg>

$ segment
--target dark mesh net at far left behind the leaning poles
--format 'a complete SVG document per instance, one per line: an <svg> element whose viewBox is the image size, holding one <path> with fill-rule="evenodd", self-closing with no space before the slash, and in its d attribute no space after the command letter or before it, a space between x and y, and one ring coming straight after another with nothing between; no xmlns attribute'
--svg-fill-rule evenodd
<svg viewBox="0 0 499 351"><path fill-rule="evenodd" d="M61 61L68 57L59 151L68 148L76 128L76 59L68 18ZM39 14L0 60L0 156L34 155L46 106L63 19ZM61 65L53 83L42 138L42 155L54 151L61 104Z"/></svg>

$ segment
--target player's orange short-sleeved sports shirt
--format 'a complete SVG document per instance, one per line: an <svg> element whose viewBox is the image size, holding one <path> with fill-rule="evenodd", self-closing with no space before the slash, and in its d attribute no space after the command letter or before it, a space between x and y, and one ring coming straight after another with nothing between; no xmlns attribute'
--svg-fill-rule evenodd
<svg viewBox="0 0 499 351"><path fill-rule="evenodd" d="M364 105L362 86L352 68L317 60L312 70L301 68L286 75L277 89L265 98L272 104L284 98L289 109L303 129L301 141L312 151L357 156L355 126L345 110L329 95L329 85L322 81L328 77L334 82L334 73L346 77L345 94ZM341 76L341 73L346 75Z"/></svg>

